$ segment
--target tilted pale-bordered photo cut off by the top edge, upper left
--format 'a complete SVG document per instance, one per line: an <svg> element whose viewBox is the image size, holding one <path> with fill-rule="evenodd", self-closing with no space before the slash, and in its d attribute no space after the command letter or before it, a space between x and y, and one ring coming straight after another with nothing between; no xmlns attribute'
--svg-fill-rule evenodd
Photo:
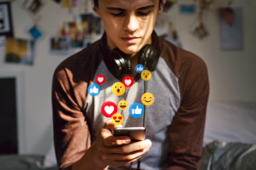
<svg viewBox="0 0 256 170"><path fill-rule="evenodd" d="M35 16L42 10L45 2L43 0L25 0L23 2L23 7L32 16Z"/></svg>

